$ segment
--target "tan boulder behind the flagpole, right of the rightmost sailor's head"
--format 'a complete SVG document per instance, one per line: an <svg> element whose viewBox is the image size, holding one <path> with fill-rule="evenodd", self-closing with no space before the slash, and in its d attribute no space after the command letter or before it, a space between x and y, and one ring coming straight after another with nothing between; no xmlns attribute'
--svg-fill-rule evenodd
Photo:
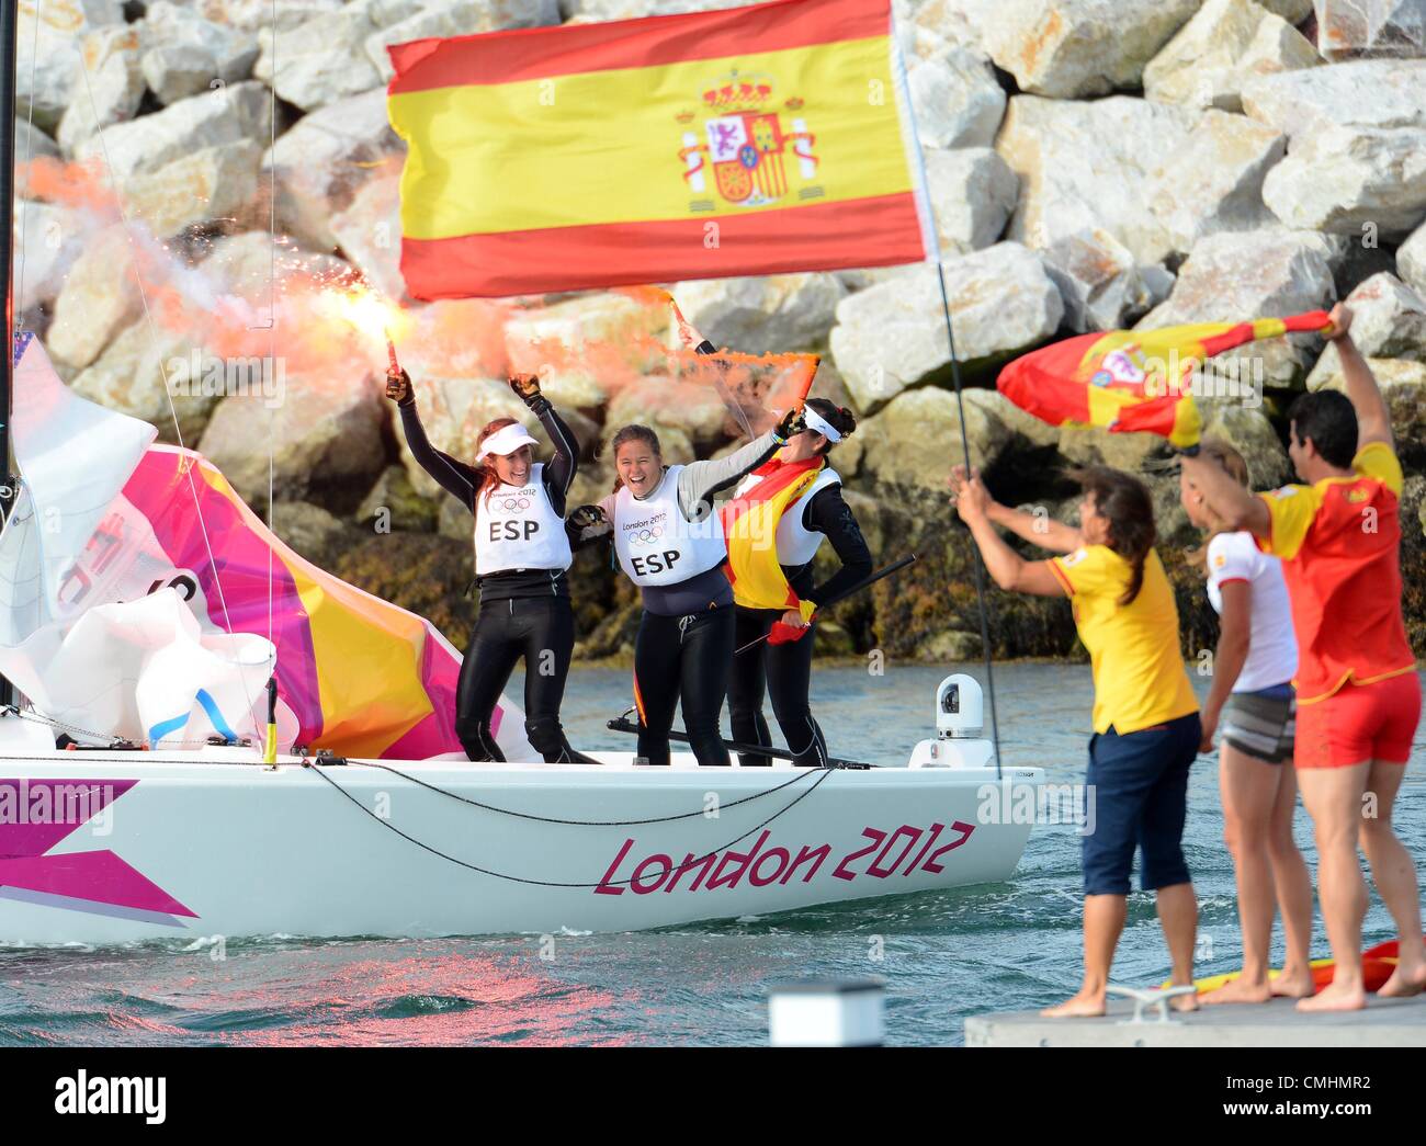
<svg viewBox="0 0 1426 1146"><path fill-rule="evenodd" d="M968 388L961 396L971 465L988 469L1015 436L1002 416L1010 402L995 391ZM960 406L940 386L897 395L857 428L857 438L863 472L881 485L944 493L951 466L964 460Z"/></svg>

